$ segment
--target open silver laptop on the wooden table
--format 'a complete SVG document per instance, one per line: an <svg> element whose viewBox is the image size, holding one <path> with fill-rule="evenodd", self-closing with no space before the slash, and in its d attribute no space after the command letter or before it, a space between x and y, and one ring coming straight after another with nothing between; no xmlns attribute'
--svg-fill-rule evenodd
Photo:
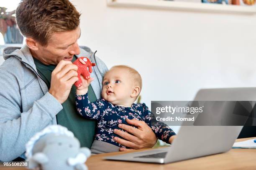
<svg viewBox="0 0 256 170"><path fill-rule="evenodd" d="M201 89L194 101L254 101L256 88ZM251 103L254 107L255 103ZM226 107L230 107L226 105ZM214 114L214 110L212 110ZM225 113L223 113L225 116ZM244 120L244 123L246 119ZM243 125L240 126L181 126L177 138L169 147L108 156L107 160L122 160L145 163L173 163L230 150Z"/></svg>

